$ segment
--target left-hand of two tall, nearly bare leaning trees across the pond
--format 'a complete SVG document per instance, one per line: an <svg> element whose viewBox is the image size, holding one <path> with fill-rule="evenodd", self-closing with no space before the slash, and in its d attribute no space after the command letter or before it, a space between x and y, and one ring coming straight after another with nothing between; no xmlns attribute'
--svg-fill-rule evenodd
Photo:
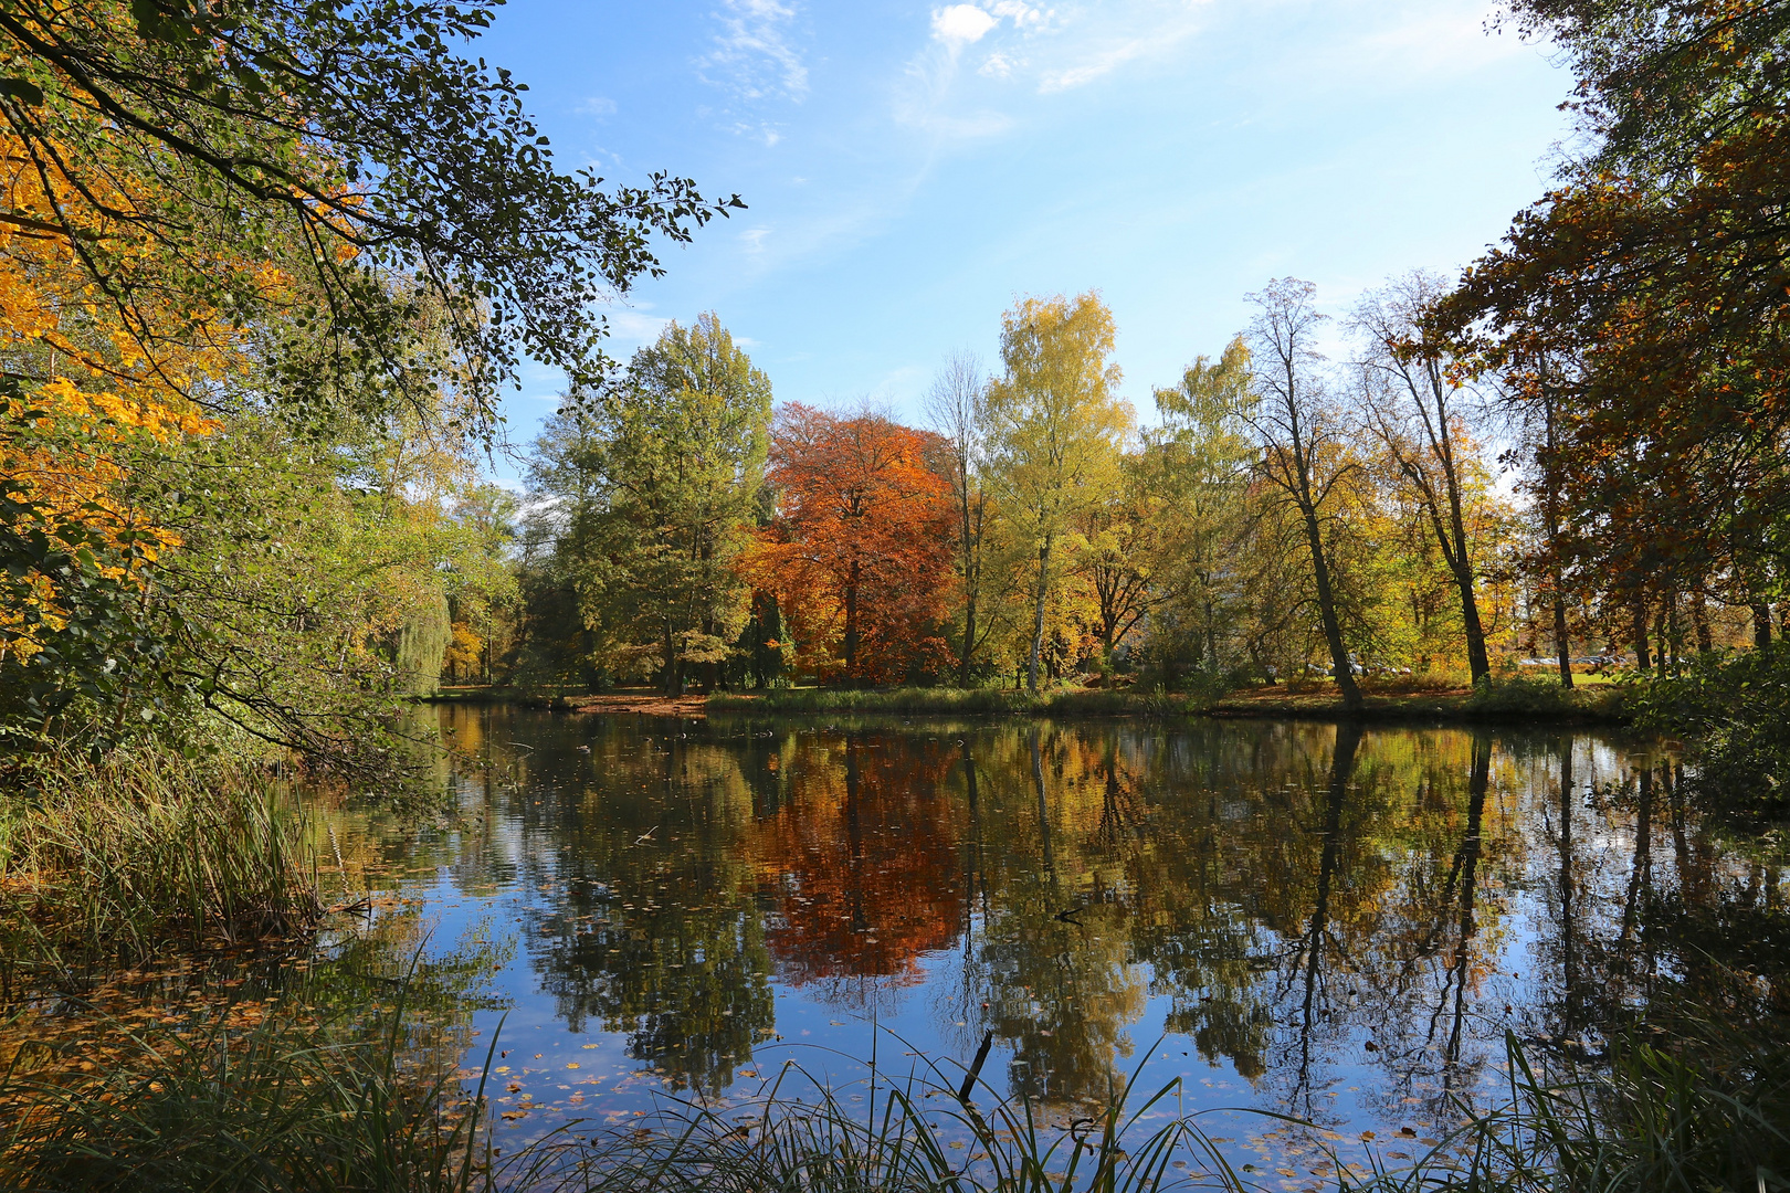
<svg viewBox="0 0 1790 1193"><path fill-rule="evenodd" d="M1317 374L1317 327L1326 318L1314 306L1316 286L1282 277L1249 295L1257 306L1249 326L1255 388L1260 402L1242 415L1257 436L1260 478L1273 487L1300 520L1312 587L1330 664L1346 708L1360 708L1348 644L1342 639L1334 583L1332 529L1337 487L1357 469L1342 435L1342 415Z"/></svg>

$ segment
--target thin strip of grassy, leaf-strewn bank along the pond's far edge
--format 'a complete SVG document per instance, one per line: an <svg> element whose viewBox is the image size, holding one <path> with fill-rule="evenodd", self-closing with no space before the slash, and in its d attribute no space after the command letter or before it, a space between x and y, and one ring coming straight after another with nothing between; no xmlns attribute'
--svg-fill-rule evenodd
<svg viewBox="0 0 1790 1193"><path fill-rule="evenodd" d="M741 715L959 715L959 717L1294 717L1366 723L1462 724L1622 724L1629 721L1625 689L1586 683L1572 690L1536 680L1511 680L1489 689L1364 685L1364 706L1350 712L1328 683L1278 683L1224 696L1061 689L1031 694L1015 689L770 689L664 696L648 689L598 694L524 694L496 689L444 689L430 703L519 703L562 712L641 714L696 719Z"/></svg>

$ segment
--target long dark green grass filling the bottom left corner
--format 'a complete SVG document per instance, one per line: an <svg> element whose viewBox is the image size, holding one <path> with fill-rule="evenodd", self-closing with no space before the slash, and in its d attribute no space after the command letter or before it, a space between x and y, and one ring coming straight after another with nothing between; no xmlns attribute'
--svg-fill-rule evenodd
<svg viewBox="0 0 1790 1193"><path fill-rule="evenodd" d="M0 1077L0 1184L72 1193L465 1193L478 1098L413 1046L403 1000L367 1021L113 1025L98 1066L20 1055ZM456 1055L456 1050L453 1050ZM32 1064L32 1062L38 1064Z"/></svg>

